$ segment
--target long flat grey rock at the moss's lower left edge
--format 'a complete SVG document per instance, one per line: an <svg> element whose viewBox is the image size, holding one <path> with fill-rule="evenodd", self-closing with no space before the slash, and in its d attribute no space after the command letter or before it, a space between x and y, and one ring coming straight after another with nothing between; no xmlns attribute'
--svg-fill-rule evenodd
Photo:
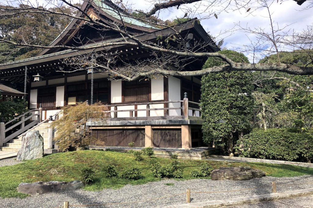
<svg viewBox="0 0 313 208"><path fill-rule="evenodd" d="M18 192L35 196L35 195L42 195L42 194L47 194L47 193L56 193L56 192L62 192L62 191L76 190L82 186L84 186L84 183L79 180L74 180L71 182L38 181L35 183L21 183L18 186Z"/></svg>

